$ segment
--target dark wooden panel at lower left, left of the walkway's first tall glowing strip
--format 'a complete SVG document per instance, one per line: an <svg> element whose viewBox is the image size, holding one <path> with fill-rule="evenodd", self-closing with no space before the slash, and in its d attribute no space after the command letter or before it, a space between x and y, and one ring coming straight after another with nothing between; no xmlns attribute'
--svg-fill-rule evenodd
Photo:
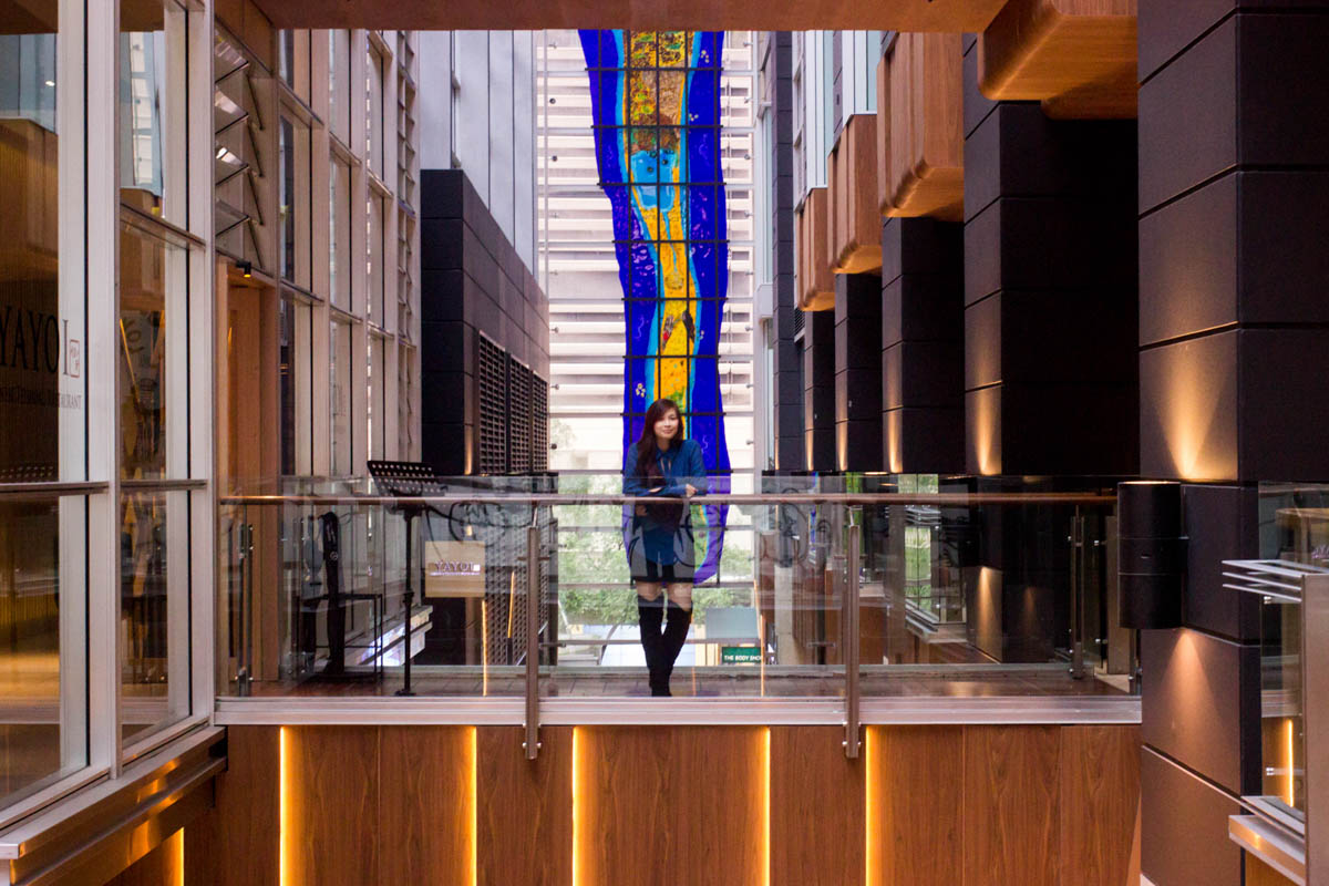
<svg viewBox="0 0 1329 886"><path fill-rule="evenodd" d="M278 727L227 727L217 805L185 828L190 886L279 886L279 743Z"/></svg>

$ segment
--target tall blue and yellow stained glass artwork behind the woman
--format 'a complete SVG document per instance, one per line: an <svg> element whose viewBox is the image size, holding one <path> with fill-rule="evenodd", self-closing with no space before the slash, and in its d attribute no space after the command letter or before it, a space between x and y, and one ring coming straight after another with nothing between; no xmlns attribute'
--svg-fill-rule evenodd
<svg viewBox="0 0 1329 886"><path fill-rule="evenodd" d="M718 347L730 276L720 167L724 33L582 31L581 40L623 290L623 448L641 436L655 400L672 400L702 446L708 490L727 493ZM710 505L704 514L696 582L715 574L728 507Z"/></svg>

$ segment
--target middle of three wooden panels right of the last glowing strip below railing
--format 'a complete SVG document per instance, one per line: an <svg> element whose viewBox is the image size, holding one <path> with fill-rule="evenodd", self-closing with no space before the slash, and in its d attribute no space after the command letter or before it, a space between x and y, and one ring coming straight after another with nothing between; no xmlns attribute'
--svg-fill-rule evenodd
<svg viewBox="0 0 1329 886"><path fill-rule="evenodd" d="M1057 886L1058 727L965 727L964 882Z"/></svg>

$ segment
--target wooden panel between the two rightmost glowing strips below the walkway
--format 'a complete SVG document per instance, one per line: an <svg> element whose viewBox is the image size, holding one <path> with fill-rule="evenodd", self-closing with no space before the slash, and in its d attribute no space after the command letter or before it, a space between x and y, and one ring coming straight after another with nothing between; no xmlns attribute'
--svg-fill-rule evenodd
<svg viewBox="0 0 1329 886"><path fill-rule="evenodd" d="M771 886L861 886L864 761L836 727L771 727Z"/></svg>

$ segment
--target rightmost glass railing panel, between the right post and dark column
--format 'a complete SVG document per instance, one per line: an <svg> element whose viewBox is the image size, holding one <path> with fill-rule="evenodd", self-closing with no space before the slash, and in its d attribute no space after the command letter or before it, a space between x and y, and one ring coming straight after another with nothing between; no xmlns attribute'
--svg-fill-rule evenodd
<svg viewBox="0 0 1329 886"><path fill-rule="evenodd" d="M840 482L845 482L841 480ZM867 696L1130 692L1111 612L1110 481L861 476L897 493L852 510L861 533L860 662Z"/></svg>

